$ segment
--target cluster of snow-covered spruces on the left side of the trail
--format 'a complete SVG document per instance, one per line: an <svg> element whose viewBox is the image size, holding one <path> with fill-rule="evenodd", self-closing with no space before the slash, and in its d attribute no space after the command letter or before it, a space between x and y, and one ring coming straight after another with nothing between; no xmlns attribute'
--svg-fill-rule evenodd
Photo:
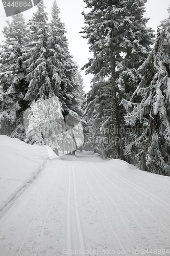
<svg viewBox="0 0 170 256"><path fill-rule="evenodd" d="M81 108L83 80L69 53L56 1L52 6L51 22L48 22L43 1L37 7L28 24L21 13L16 14L3 31L1 134L26 139L31 144L45 143L55 149L59 148L61 130L68 130L68 122L62 125L66 116L73 117L69 118L73 120L70 126L74 126L75 119L85 124ZM23 113L29 107L26 134ZM69 134L67 143L71 146Z"/></svg>

